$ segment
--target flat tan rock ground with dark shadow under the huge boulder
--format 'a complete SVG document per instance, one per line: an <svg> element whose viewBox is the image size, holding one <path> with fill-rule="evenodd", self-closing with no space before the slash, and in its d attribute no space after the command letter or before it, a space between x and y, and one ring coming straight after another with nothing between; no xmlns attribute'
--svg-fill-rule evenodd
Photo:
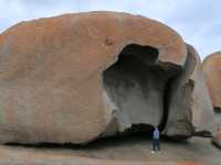
<svg viewBox="0 0 221 165"><path fill-rule="evenodd" d="M9 158L39 161L45 158L64 158L67 161L71 158L73 162L73 158L76 160L76 157L78 157L78 161L82 160L81 157L87 157L105 162L107 160L114 162L128 161L129 163L127 164L149 162L151 165L152 162L164 162L164 165L173 165L173 163L194 162L202 165L221 165L221 151L211 145L210 139L192 138L179 143L161 140L161 148L160 154L151 154L151 140L144 136L99 140L85 146L71 144L44 144L40 146L1 145L0 161L8 161ZM77 164L87 165L85 162ZM114 164L117 165L117 163Z"/></svg>

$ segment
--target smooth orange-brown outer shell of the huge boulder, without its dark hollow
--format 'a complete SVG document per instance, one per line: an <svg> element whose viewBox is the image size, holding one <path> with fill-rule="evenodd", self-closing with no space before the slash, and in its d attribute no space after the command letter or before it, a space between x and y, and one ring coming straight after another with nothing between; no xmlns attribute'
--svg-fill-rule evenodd
<svg viewBox="0 0 221 165"><path fill-rule="evenodd" d="M117 105L109 100L103 88L103 72L113 65L118 54L130 44L136 44L138 50L141 45L154 47L157 53L152 65L156 63L155 65L160 64L164 67L171 63L182 67L186 59L186 46L175 31L156 21L125 13L92 12L40 19L22 22L2 33L0 141L84 143L99 136L112 122ZM129 48L134 51L134 47ZM143 56L148 56L148 52L136 61L143 61ZM144 73L148 68L144 67L146 64L143 62L130 58L128 61L130 62L125 62L125 67L130 63L139 67L130 67L131 70L125 75L134 76L135 82L131 90L128 90L130 97L122 105L122 110L137 103L140 109L130 107L129 111L134 109L141 113L147 107L145 101L151 102L152 97L156 102L149 107L156 107L156 112L146 109L147 112L143 114L148 117L148 111L156 114L151 120L145 119L144 116L134 118L131 113L120 117L119 122L126 123L120 124L120 130L131 122L159 124L162 118L162 96L159 91L164 90L164 82L156 85L154 88L157 91L152 90L152 94L141 91L140 88L149 89L155 84L151 80L149 87L138 84L143 77L135 77L134 73ZM170 69L169 65L167 66L165 72ZM120 74L116 76L120 77ZM149 74L144 79L151 76L157 77ZM125 89L122 89L123 94L117 95L125 95ZM137 94L131 98L134 92ZM144 94L146 98L140 97ZM139 100L139 97L144 101ZM131 100L134 102L130 102Z"/></svg>

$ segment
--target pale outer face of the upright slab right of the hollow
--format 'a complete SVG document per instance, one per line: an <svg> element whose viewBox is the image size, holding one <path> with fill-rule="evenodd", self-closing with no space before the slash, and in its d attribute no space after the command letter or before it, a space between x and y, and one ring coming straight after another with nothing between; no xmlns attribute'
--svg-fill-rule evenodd
<svg viewBox="0 0 221 165"><path fill-rule="evenodd" d="M194 58L194 69L190 79L194 82L191 96L192 124L197 133L203 136L210 136L215 132L214 113L210 94L207 87L202 64L197 51L188 45L188 51Z"/></svg>

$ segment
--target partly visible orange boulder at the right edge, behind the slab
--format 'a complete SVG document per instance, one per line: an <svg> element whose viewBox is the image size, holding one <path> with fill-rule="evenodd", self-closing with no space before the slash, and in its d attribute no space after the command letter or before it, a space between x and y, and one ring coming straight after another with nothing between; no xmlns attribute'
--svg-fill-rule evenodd
<svg viewBox="0 0 221 165"><path fill-rule="evenodd" d="M203 61L203 72L212 106L214 109L215 124L218 128L213 143L221 148L221 52L208 55Z"/></svg>

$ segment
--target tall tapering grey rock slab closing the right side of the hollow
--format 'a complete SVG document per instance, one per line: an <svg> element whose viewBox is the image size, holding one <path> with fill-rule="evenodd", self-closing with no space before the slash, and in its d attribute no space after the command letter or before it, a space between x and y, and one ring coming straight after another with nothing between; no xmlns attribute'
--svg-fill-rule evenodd
<svg viewBox="0 0 221 165"><path fill-rule="evenodd" d="M185 69L175 78L169 97L165 134L188 138L214 134L214 114L199 55L187 44Z"/></svg>

